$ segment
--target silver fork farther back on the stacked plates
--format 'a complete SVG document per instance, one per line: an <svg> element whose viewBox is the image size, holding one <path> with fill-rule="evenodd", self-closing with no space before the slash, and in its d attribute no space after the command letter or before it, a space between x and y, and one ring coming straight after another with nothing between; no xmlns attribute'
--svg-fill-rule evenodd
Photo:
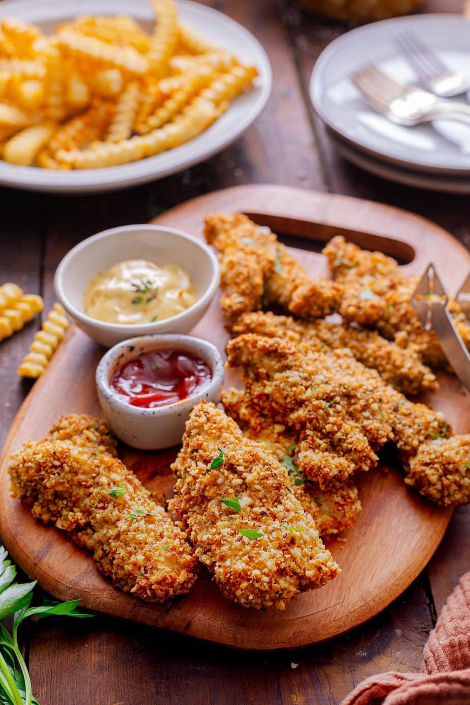
<svg viewBox="0 0 470 705"><path fill-rule="evenodd" d="M450 98L470 89L470 76L450 71L416 32L402 32L395 39L423 86L435 95Z"/></svg>

